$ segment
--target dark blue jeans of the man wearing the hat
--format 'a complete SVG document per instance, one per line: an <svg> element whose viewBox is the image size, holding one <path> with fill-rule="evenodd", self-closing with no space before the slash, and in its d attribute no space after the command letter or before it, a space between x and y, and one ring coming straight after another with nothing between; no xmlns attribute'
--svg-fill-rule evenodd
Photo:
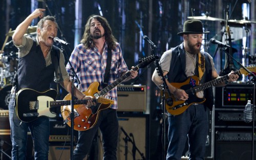
<svg viewBox="0 0 256 160"><path fill-rule="evenodd" d="M181 115L168 117L167 160L181 159L186 140L189 160L204 159L208 132L207 110L203 105L191 105Z"/></svg>

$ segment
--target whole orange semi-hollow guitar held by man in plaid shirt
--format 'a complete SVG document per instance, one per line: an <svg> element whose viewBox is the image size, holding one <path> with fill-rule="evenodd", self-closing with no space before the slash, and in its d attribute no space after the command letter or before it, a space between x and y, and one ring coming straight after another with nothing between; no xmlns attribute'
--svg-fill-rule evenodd
<svg viewBox="0 0 256 160"><path fill-rule="evenodd" d="M143 68L149 64L151 64L153 61L158 59L157 56L148 56L139 61L139 64L136 65L132 70L138 71L139 68ZM93 82L88 87L87 91L84 92L87 96L92 96L96 99L100 97L104 97L108 92L110 92L111 89L116 87L118 84L123 82L127 77L131 75L130 72L127 72L120 78L118 78L116 81L111 83L110 85L106 86L102 90L99 91L100 83L99 82ZM71 94L68 94L64 100L71 100ZM114 102L113 102L114 103ZM109 108L113 103L109 104L103 104L98 103L96 106L96 109L92 109L91 107L84 107L84 105L74 105L74 110L76 111L76 115L74 118L74 129L78 131L84 131L91 129L92 127L97 124L99 112L103 109ZM70 119L70 112L71 112L71 106L61 106L61 116L65 123L67 123L69 126L71 126L71 119Z"/></svg>

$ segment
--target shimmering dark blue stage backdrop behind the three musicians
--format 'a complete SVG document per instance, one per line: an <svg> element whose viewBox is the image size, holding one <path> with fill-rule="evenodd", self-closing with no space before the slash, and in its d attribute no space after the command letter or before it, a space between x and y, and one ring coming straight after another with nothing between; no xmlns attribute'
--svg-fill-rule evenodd
<svg viewBox="0 0 256 160"><path fill-rule="evenodd" d="M75 24L76 16L76 1L57 0L57 1L18 1L18 0L0 0L0 45L4 45L6 34L9 29L15 28L22 22L35 8L45 8L45 15L53 15L56 17L59 31L58 37L70 43L65 47L65 51L70 56L74 46L79 43L84 25L91 14L101 14L108 19L114 36L121 44L124 59L131 68L138 64L141 58L153 54L149 44L143 40L143 35L147 35L156 45L157 50L154 51L159 57L164 51L170 47L176 47L182 42L182 37L177 33L183 30L183 22L188 16L202 16L208 14L211 17L225 18L225 9L229 6L229 19L243 19L242 3L248 1L228 1L228 0L189 0L189 1L156 1L156 0L108 0L108 1L77 1L80 2L80 10L78 25ZM31 6L35 7L31 7ZM250 5L251 10L255 8L255 2ZM38 6L38 7L37 7ZM256 21L255 11L250 12L249 20ZM231 14L232 13L232 14ZM254 19L253 19L254 18ZM35 19L31 26L37 24ZM221 39L221 30L223 25L220 21L202 20L205 30L210 31L205 37L205 50L214 57L215 65L218 72L222 69L225 63L225 58L220 58L220 52L215 44L211 44L209 39L214 37ZM239 26L241 30L244 26ZM77 32L75 32L77 31ZM238 33L233 33L238 34ZM32 35L33 36L33 35ZM76 37L75 37L76 36ZM255 41L251 39L255 37L255 25L249 27L249 35L247 47L251 48L248 55L255 55ZM7 42L11 40L8 38ZM239 43L234 43L234 46L239 50L234 57L241 61L242 46ZM217 52L218 51L218 52ZM12 43L5 45L4 55L9 55L11 52L17 52ZM247 55L247 56L248 56ZM159 89L151 81L152 73L155 66L142 68L139 70L139 76L135 80L124 84L141 84L147 86L147 113L150 113L150 154L152 159L157 159L161 147L159 147L159 135L161 130L161 98L159 97ZM131 103L131 105L133 105ZM156 138L157 137L157 138Z"/></svg>

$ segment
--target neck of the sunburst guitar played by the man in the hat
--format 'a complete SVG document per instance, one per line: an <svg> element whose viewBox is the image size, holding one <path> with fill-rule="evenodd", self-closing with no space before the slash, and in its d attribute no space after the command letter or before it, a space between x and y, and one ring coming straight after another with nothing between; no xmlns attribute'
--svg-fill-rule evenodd
<svg viewBox="0 0 256 160"><path fill-rule="evenodd" d="M234 74L241 75L240 71L236 71L236 72L234 72ZM189 92L198 93L198 92L203 91L204 89L207 89L209 87L216 86L216 85L218 85L222 82L225 82L228 79L229 79L228 75L225 75L225 76L222 76L222 77L217 78L215 80L212 80L212 81L206 82L204 84L201 84L201 85L195 86L193 88L190 88L190 89L186 90L186 93L189 93Z"/></svg>

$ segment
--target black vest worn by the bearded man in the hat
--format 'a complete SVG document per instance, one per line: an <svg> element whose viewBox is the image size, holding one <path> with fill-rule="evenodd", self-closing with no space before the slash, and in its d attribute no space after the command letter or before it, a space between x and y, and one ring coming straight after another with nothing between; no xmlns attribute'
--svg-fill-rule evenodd
<svg viewBox="0 0 256 160"><path fill-rule="evenodd" d="M176 83L182 83L188 79L188 77L185 74L185 68L186 68L186 55L185 50L183 47L183 43L178 45L176 48L172 49L172 60L170 62L170 69L169 73L167 75L168 81L170 83L176 82ZM208 82L211 81L211 64L210 64L210 58L207 54L204 52L201 52L201 54L205 57L205 72L204 72L204 81ZM207 106L210 110L212 110L213 104L214 104L214 94L212 92L212 87L204 90L204 95L206 98L206 101L204 102L204 106Z"/></svg>

